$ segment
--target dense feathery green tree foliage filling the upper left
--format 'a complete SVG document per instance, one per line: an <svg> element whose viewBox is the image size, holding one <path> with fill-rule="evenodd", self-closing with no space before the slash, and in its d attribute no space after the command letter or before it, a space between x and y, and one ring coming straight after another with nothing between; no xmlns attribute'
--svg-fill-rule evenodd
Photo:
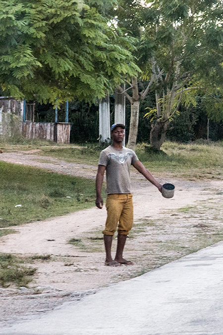
<svg viewBox="0 0 223 335"><path fill-rule="evenodd" d="M134 75L132 40L105 15L112 0L0 1L4 95L95 101Z"/></svg>

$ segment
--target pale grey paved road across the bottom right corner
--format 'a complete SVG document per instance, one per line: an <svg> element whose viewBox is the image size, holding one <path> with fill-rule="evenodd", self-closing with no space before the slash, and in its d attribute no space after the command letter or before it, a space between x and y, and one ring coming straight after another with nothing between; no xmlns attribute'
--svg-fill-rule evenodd
<svg viewBox="0 0 223 335"><path fill-rule="evenodd" d="M223 242L1 335L222 335Z"/></svg>

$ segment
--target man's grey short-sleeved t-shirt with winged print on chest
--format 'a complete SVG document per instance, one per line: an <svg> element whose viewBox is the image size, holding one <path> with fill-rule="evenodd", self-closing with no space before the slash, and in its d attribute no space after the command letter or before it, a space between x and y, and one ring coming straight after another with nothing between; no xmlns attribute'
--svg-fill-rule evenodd
<svg viewBox="0 0 223 335"><path fill-rule="evenodd" d="M130 166L136 160L135 152L125 147L116 150L110 145L102 150L98 164L106 166L108 194L131 193Z"/></svg>

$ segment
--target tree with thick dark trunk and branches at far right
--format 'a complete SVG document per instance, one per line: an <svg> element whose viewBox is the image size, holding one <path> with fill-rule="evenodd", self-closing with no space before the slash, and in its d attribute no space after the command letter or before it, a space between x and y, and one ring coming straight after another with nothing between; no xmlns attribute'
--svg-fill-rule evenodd
<svg viewBox="0 0 223 335"><path fill-rule="evenodd" d="M222 1L158 4L159 23L146 31L149 33L152 28L159 46L151 59L152 74L160 87L156 89L156 118L152 120L150 142L160 149L180 104L195 104L192 90L203 87L202 81L210 87L213 79L216 82L217 77L223 76L220 56L223 7ZM218 72L215 78L214 72Z"/></svg>

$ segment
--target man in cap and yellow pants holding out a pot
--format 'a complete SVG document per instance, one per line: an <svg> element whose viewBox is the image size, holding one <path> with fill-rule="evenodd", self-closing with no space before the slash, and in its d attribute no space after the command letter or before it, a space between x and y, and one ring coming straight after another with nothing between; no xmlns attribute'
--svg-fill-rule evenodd
<svg viewBox="0 0 223 335"><path fill-rule="evenodd" d="M110 267L121 264L131 265L122 254L126 237L133 224L133 204L130 191L130 166L133 165L146 179L154 184L159 191L162 185L156 181L151 173L139 161L135 152L122 147L125 126L113 124L111 126L112 145L102 150L99 158L98 172L96 177L96 206L103 207L101 197L102 183L106 170L107 178L107 220L103 231L106 250L105 265ZM114 260L111 257L111 243L114 232L118 225L117 250Z"/></svg>

